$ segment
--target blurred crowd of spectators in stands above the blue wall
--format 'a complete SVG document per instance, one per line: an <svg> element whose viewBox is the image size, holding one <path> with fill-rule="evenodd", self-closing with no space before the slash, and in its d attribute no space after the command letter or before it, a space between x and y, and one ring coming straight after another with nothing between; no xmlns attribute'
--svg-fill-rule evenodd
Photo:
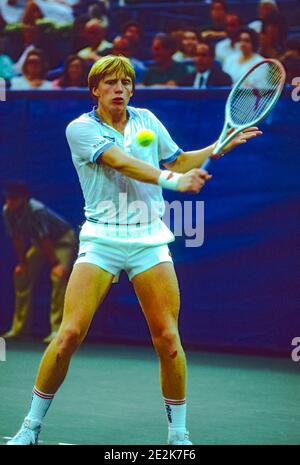
<svg viewBox="0 0 300 465"><path fill-rule="evenodd" d="M131 60L137 87L231 86L263 58L279 59L291 84L300 39L289 35L284 11L260 0L247 23L233 8L207 2L209 24L156 31L145 45L135 20L112 36L109 0L0 0L0 77L13 90L87 88L92 64L114 54Z"/></svg>

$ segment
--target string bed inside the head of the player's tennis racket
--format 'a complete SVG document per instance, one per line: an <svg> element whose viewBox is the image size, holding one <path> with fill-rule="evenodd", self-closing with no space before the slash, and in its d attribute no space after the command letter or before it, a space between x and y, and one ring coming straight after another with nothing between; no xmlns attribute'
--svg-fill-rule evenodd
<svg viewBox="0 0 300 465"><path fill-rule="evenodd" d="M254 123L282 90L282 70L276 63L264 63L247 75L235 89L230 105L234 125Z"/></svg>

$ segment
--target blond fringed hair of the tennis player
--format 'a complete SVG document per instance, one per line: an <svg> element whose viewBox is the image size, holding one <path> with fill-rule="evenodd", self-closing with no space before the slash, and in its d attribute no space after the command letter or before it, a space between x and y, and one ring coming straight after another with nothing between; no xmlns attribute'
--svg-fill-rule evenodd
<svg viewBox="0 0 300 465"><path fill-rule="evenodd" d="M99 82L109 74L116 74L116 77L129 77L132 81L133 90L135 85L135 72L128 58L119 55L107 55L97 60L88 75L88 86L91 92L98 87Z"/></svg>

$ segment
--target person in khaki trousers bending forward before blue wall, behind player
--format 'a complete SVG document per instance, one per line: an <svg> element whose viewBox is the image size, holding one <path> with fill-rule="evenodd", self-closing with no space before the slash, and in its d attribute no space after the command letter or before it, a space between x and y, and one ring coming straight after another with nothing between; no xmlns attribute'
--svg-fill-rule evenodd
<svg viewBox="0 0 300 465"><path fill-rule="evenodd" d="M15 311L11 330L5 338L22 334L30 313L35 282L42 267L50 267L52 294L50 342L59 329L67 279L77 249L71 226L43 203L32 198L28 186L7 182L4 188L3 219L17 255L14 270ZM31 245L28 247L28 243Z"/></svg>

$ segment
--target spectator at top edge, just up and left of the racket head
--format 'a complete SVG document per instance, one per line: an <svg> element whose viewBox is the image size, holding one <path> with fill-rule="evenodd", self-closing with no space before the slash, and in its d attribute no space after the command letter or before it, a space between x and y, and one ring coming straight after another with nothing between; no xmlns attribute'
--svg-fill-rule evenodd
<svg viewBox="0 0 300 465"><path fill-rule="evenodd" d="M219 40L226 37L227 4L224 0L213 0L210 6L211 24L200 29L201 37Z"/></svg>

